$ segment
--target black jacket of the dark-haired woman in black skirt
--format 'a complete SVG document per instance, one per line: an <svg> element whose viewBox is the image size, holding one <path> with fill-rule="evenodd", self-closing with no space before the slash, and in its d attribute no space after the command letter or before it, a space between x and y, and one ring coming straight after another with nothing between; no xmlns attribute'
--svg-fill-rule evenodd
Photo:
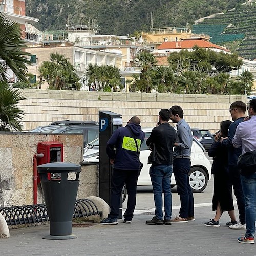
<svg viewBox="0 0 256 256"><path fill-rule="evenodd" d="M211 167L211 174L228 173L228 148L220 143L214 141L209 151L209 157L212 157L214 162Z"/></svg>

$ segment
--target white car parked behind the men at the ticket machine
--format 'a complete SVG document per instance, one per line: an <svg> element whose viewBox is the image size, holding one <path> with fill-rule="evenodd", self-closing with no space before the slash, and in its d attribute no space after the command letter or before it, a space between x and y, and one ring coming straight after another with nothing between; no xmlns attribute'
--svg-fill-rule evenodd
<svg viewBox="0 0 256 256"><path fill-rule="evenodd" d="M138 178L138 186L151 186L151 179L149 169L151 164L147 164L150 150L146 145L146 140L150 137L152 128L142 128L145 132L145 140L140 148L140 161L144 164L140 176ZM99 161L99 139L89 143L84 148L83 155L84 162L98 162ZM191 169L189 172L189 183L193 192L202 192L211 178L211 164L204 154L204 147L193 137L191 148ZM176 181L172 175L171 186L174 187Z"/></svg>

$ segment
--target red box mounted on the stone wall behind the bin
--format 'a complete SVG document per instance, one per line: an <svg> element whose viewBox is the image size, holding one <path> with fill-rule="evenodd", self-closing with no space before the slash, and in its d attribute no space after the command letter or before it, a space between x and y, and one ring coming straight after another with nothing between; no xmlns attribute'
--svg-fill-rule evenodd
<svg viewBox="0 0 256 256"><path fill-rule="evenodd" d="M63 162L63 143L57 141L43 141L37 144L37 153L44 154L44 157L37 158L37 165L45 163ZM60 173L49 173L49 180L61 180ZM40 183L38 176L37 183Z"/></svg>

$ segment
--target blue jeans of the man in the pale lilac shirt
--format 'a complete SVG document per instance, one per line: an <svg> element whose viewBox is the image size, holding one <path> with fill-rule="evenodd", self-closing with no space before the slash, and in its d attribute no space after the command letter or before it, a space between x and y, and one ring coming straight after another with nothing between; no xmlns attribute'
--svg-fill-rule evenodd
<svg viewBox="0 0 256 256"><path fill-rule="evenodd" d="M245 236L254 238L256 221L256 173L245 176L241 175L241 181L245 197Z"/></svg>

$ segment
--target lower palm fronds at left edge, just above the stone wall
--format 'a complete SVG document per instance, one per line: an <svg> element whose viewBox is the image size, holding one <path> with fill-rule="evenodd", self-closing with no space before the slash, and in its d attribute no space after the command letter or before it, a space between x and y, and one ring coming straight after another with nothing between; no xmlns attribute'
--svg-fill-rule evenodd
<svg viewBox="0 0 256 256"><path fill-rule="evenodd" d="M18 89L11 88L5 81L0 81L0 131L22 130L20 121L25 114L17 104L24 99Z"/></svg>

